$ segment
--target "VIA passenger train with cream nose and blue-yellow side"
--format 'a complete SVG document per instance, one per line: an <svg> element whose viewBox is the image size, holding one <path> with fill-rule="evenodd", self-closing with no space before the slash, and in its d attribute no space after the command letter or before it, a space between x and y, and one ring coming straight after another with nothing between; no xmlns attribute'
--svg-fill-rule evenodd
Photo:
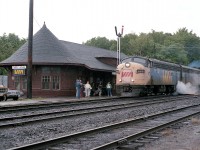
<svg viewBox="0 0 200 150"><path fill-rule="evenodd" d="M172 94L178 81L199 86L200 70L140 56L123 59L116 69L116 91L123 96Z"/></svg>

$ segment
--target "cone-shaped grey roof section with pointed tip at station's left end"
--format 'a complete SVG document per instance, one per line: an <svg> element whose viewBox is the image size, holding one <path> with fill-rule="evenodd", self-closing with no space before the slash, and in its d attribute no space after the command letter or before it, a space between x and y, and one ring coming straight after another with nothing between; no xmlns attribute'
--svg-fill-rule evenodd
<svg viewBox="0 0 200 150"><path fill-rule="evenodd" d="M32 60L34 63L54 63L65 58L66 48L54 36L54 34L47 29L44 24L43 27L33 36L33 50ZM20 47L11 57L1 63L27 63L28 56L28 42ZM52 57L54 56L54 57Z"/></svg>

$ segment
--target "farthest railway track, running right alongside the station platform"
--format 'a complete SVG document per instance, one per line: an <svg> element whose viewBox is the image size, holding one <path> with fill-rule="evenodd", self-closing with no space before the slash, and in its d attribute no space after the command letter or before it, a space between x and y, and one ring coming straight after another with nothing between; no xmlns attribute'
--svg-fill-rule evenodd
<svg viewBox="0 0 200 150"><path fill-rule="evenodd" d="M111 98L100 98L100 99L83 99L83 100L76 100L76 101L38 101L36 103L30 103L30 104L19 104L19 105L13 105L13 106L0 106L0 113L4 112L17 112L17 111L25 111L25 110L37 110L37 109L47 109L47 108L60 108L60 107L67 107L67 106L81 106L81 105L94 105L94 104L101 104L101 103L109 103L113 101L121 101L126 102L133 100L134 102L140 102L140 101L152 101L157 99L165 99L165 98L173 98L174 96L149 96L149 97L111 97ZM176 96L179 98L182 98L182 95ZM191 97L188 95L188 97Z"/></svg>

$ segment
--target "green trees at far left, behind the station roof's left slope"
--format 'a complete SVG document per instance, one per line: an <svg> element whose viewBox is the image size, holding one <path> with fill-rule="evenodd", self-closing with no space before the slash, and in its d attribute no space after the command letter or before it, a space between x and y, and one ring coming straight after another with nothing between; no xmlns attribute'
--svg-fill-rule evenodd
<svg viewBox="0 0 200 150"><path fill-rule="evenodd" d="M26 41L26 39L20 39L17 35L12 33L8 35L4 33L3 36L0 36L0 62L10 57ZM6 73L7 71L1 67L0 74L5 75Z"/></svg>

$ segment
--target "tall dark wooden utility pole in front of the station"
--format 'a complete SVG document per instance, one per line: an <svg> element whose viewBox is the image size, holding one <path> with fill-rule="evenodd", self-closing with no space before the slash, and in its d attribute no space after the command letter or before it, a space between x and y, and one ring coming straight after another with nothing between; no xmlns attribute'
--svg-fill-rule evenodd
<svg viewBox="0 0 200 150"><path fill-rule="evenodd" d="M33 0L29 4L27 98L32 99Z"/></svg>

